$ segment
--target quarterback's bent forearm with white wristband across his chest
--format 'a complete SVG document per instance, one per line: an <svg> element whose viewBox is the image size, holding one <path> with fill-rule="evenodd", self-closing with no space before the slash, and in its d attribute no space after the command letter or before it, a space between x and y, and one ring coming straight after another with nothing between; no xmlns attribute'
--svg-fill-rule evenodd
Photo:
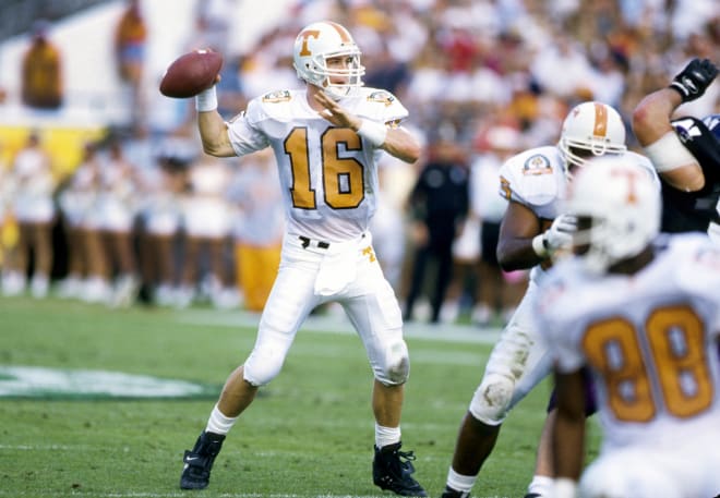
<svg viewBox="0 0 720 498"><path fill-rule="evenodd" d="M362 119L344 109L324 92L317 92L314 98L325 108L320 114L334 125L353 130L375 147L403 161L415 162L420 158L420 143L403 127Z"/></svg>

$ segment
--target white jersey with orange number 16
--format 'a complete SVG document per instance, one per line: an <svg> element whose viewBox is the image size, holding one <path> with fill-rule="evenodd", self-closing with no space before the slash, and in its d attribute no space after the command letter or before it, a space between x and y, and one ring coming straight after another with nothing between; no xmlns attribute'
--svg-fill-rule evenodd
<svg viewBox="0 0 720 498"><path fill-rule="evenodd" d="M395 96L374 88L360 88L340 105L379 123L397 124L408 116ZM255 98L228 127L238 156L273 148L288 233L340 242L368 229L376 205L375 165L383 151L321 118L304 89Z"/></svg>

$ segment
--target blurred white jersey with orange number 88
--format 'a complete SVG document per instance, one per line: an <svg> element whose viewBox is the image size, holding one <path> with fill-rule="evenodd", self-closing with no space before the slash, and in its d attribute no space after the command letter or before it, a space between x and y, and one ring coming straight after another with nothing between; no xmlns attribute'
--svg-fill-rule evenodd
<svg viewBox="0 0 720 498"><path fill-rule="evenodd" d="M567 258L540 282L538 325L555 367L590 367L611 448L720 434L720 250L697 234L656 247L634 276L590 277Z"/></svg>

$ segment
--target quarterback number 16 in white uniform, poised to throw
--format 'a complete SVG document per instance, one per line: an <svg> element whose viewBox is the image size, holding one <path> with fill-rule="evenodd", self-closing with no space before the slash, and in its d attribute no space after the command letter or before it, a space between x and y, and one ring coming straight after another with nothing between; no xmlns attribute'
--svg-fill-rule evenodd
<svg viewBox="0 0 720 498"><path fill-rule="evenodd" d="M413 162L418 141L399 126L408 116L395 96L362 88L364 68L350 33L313 23L295 42L295 69L307 83L251 100L226 122L212 87L196 97L207 154L243 156L272 147L278 163L286 234L275 284L253 351L228 377L194 448L185 451L183 489L208 485L226 434L257 389L283 367L310 312L339 302L355 325L374 374L373 482L401 496L427 496L412 477L412 452L400 451L400 412L410 361L400 307L375 258L368 223L375 209L377 157Z"/></svg>

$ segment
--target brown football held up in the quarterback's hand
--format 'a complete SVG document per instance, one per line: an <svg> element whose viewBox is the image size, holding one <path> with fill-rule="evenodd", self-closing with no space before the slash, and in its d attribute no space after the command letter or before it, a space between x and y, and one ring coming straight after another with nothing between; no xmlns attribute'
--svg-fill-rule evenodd
<svg viewBox="0 0 720 498"><path fill-rule="evenodd" d="M223 56L211 50L194 50L176 59L165 71L160 93L166 97L194 97L209 88L223 69Z"/></svg>

